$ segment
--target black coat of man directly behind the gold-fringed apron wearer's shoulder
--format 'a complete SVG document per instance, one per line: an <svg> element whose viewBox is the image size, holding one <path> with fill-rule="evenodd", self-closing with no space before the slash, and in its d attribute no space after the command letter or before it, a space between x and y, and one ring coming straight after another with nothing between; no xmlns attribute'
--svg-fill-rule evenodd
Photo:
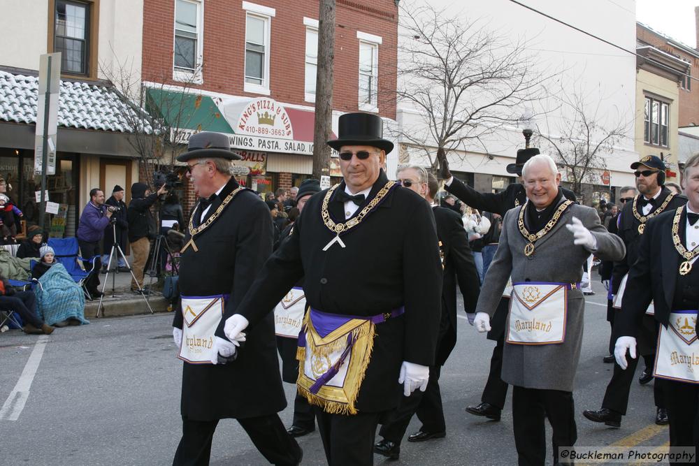
<svg viewBox="0 0 699 466"><path fill-rule="evenodd" d="M456 344L456 285L461 290L466 312L476 312L480 282L459 214L445 207L433 207L433 212L444 254L442 318L435 365L444 365Z"/></svg>

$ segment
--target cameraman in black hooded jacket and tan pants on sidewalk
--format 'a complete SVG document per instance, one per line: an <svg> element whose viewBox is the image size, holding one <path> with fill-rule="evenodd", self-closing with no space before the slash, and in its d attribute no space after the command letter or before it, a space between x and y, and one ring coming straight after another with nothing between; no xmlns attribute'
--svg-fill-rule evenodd
<svg viewBox="0 0 699 466"><path fill-rule="evenodd" d="M127 209L129 221L129 243L134 261L131 263L134 276L138 283L131 279L131 291L140 293L139 284L143 288L143 270L150 253L150 240L156 236L155 220L150 213L150 207L158 200L158 197L168 194L167 184L163 184L157 192L151 194L145 183L131 185L131 202Z"/></svg>

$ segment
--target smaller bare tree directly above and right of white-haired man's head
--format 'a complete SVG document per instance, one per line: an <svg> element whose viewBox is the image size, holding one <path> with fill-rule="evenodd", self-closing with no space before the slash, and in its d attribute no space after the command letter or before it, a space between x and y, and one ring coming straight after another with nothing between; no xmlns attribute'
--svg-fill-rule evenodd
<svg viewBox="0 0 699 466"><path fill-rule="evenodd" d="M570 189L582 196L584 183L601 184L601 173L607 168L605 157L628 137L630 120L610 115L606 99L591 92L560 92L554 101L559 103L561 117L554 122L546 117L538 124L535 140L563 166Z"/></svg>

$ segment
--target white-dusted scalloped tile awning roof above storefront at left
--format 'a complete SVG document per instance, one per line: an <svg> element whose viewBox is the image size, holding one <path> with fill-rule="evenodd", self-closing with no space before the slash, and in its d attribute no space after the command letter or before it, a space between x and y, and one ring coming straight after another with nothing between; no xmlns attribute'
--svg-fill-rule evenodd
<svg viewBox="0 0 699 466"><path fill-rule="evenodd" d="M0 120L36 123L38 78L0 70ZM124 117L133 115L134 118ZM114 87L61 80L58 124L67 128L131 132L136 112ZM129 124L131 122L131 124ZM145 122L145 131L152 128Z"/></svg>

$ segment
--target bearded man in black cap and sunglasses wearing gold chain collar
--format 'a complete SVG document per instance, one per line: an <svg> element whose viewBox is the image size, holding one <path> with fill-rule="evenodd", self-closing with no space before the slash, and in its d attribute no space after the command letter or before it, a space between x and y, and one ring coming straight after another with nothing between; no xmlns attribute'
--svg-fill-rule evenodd
<svg viewBox="0 0 699 466"><path fill-rule="evenodd" d="M643 238L647 221L666 210L675 210L687 201L686 197L677 196L665 187L665 163L660 157L644 156L640 161L631 163L631 170L635 170L636 188L640 194L633 201L624 205L617 221L617 235L624 240L624 245L626 245L626 257L621 261L614 262L612 270L612 295L616 297L614 301L617 303L617 307L621 305L624 296L624 288L622 287L624 277L638 259L638 247L641 238ZM614 316L614 322L616 319L617 316ZM641 320L642 328L638 331L638 349L640 354L644 356L646 368L639 381L641 384L647 384L653 378L651 371L653 370L656 340L658 339L658 324L651 314L646 314ZM615 326L616 323L614 323ZM616 329L612 328L612 338L616 340L617 336ZM586 418L615 428L621 425L621 416L626 414L628 393L637 363L637 359L630 361L630 370L621 370L618 364L614 364L614 372L612 379L607 384L602 408L585 410L583 415ZM658 425L668 423L663 382L656 380L653 386L656 405L655 422Z"/></svg>

